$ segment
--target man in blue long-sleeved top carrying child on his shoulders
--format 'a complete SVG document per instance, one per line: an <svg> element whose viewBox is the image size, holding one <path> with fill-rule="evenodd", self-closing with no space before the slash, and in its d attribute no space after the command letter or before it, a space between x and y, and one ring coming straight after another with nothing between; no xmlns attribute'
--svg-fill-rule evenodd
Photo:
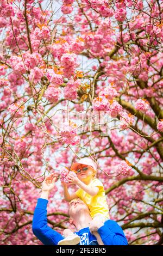
<svg viewBox="0 0 163 256"><path fill-rule="evenodd" d="M47 225L48 196L56 180L56 174L51 174L43 181L41 196L37 200L34 211L33 233L44 245L58 245L58 242L64 239L61 234ZM78 230L76 234L80 236L80 245L98 245L96 237L91 234L92 231L98 232L104 245L128 245L123 230L115 221L98 222L96 227L94 225L92 228L89 208L82 200L72 200L68 213L70 223L74 224Z"/></svg>

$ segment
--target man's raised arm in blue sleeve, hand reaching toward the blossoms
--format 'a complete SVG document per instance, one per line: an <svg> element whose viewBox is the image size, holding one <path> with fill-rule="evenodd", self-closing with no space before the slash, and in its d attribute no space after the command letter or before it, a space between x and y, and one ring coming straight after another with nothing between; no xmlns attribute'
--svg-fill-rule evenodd
<svg viewBox="0 0 163 256"><path fill-rule="evenodd" d="M47 179L48 178L48 179ZM48 176L42 184L42 192L40 198L37 200L37 205L34 211L32 229L34 235L44 245L57 245L62 237L57 231L48 227L47 225L47 204L49 192L55 185L55 176L52 174ZM51 178L51 179L49 179Z"/></svg>

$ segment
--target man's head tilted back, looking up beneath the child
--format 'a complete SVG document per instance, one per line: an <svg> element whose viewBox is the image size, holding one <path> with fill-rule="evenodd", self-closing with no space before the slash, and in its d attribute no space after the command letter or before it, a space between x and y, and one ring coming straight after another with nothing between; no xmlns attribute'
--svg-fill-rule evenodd
<svg viewBox="0 0 163 256"><path fill-rule="evenodd" d="M76 225L80 217L90 217L90 210L87 205L79 198L71 200L68 206L70 223Z"/></svg>

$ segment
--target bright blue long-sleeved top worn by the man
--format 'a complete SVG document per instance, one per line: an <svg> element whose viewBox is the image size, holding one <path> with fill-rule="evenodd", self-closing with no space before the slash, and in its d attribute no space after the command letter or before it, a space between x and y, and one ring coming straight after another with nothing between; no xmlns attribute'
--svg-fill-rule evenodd
<svg viewBox="0 0 163 256"><path fill-rule="evenodd" d="M47 225L48 200L39 198L34 211L33 233L44 245L58 245L64 237ZM98 234L104 245L128 245L122 228L112 220L108 220L99 228ZM80 236L80 245L98 245L97 239L91 234L89 228L80 229L76 232Z"/></svg>

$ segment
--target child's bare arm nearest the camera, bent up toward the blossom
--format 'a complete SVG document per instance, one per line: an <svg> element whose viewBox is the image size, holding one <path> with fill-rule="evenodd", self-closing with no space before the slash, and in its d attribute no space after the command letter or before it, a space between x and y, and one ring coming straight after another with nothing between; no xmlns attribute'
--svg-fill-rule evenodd
<svg viewBox="0 0 163 256"><path fill-rule="evenodd" d="M99 188L96 186L87 186L82 182L81 180L78 179L78 177L74 177L73 175L68 176L68 181L70 181L72 184L78 185L82 190L84 190L87 194L90 194L91 197L96 196L96 194L99 191ZM75 193L74 193L75 194ZM71 199L72 200L72 199Z"/></svg>

